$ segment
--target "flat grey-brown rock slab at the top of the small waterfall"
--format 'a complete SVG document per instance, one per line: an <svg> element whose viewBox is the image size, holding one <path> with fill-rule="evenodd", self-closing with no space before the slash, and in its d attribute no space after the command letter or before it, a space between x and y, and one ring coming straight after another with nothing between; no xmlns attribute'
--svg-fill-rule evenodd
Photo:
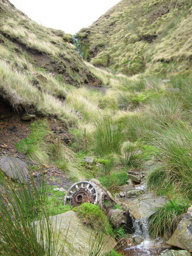
<svg viewBox="0 0 192 256"><path fill-rule="evenodd" d="M163 207L166 204L166 199L160 196L154 196L151 193L140 195L137 198L130 198L123 201L134 219L148 218L155 212L155 207Z"/></svg>

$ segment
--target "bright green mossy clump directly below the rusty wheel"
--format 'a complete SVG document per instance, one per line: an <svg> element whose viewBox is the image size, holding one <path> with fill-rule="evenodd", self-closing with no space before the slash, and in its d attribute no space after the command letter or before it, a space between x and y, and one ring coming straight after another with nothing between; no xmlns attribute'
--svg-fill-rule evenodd
<svg viewBox="0 0 192 256"><path fill-rule="evenodd" d="M98 205L84 203L80 207L73 208L83 220L84 224L96 230L104 230L105 233L113 235L113 228L108 221L108 217Z"/></svg>

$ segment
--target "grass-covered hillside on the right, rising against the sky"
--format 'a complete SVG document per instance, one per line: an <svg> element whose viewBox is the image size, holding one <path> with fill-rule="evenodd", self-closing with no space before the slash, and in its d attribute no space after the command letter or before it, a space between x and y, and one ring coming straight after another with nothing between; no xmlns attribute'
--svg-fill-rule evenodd
<svg viewBox="0 0 192 256"><path fill-rule="evenodd" d="M189 0L122 0L77 36L96 66L129 76L188 72L191 20Z"/></svg>

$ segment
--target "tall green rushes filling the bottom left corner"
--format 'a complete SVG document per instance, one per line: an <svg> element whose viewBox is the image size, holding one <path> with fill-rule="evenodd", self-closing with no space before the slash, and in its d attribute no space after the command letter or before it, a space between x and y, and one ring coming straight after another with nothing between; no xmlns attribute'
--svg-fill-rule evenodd
<svg viewBox="0 0 192 256"><path fill-rule="evenodd" d="M13 183L0 173L0 192L0 255L55 256L57 238L49 219L46 184L41 182L38 189L32 178L30 184ZM38 239L36 220L45 241Z"/></svg>

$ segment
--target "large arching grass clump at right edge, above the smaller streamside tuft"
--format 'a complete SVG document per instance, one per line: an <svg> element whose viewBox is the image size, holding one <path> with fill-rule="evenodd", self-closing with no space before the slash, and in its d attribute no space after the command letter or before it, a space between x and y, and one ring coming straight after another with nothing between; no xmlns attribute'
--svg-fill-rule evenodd
<svg viewBox="0 0 192 256"><path fill-rule="evenodd" d="M191 195L191 129L188 125L170 127L157 134L154 145L160 148L161 162L148 173L146 182L149 189L173 186L173 189Z"/></svg>

